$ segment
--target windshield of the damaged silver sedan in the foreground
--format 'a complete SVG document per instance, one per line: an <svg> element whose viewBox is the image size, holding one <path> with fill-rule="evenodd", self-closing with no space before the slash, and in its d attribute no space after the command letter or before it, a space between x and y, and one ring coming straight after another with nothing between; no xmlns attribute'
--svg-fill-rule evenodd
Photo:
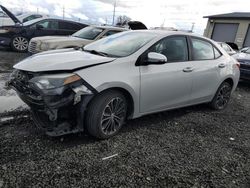
<svg viewBox="0 0 250 188"><path fill-rule="evenodd" d="M85 46L84 50L98 51L115 57L126 57L135 53L156 36L154 33L127 31L91 43Z"/></svg>

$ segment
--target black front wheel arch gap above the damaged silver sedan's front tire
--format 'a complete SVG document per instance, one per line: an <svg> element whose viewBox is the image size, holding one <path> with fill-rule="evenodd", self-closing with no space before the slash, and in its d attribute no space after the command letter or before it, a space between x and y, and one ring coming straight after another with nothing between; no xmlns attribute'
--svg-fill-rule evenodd
<svg viewBox="0 0 250 188"><path fill-rule="evenodd" d="M132 95L126 89L120 88L120 87L113 87L113 88L105 89L105 90L101 91L100 93L98 93L97 95L103 94L104 92L110 92L110 91L119 91L125 96L127 103L128 103L127 118L132 117L133 113L134 113L134 100L133 100ZM95 97L93 97L92 100L94 100L94 98ZM88 106L91 103L91 101L88 103Z"/></svg>

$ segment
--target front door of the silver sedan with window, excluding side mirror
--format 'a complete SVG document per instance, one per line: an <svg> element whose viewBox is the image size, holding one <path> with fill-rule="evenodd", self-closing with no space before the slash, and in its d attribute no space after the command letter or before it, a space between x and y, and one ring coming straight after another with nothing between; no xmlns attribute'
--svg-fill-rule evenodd
<svg viewBox="0 0 250 188"><path fill-rule="evenodd" d="M191 62L188 61L186 37L173 36L162 39L143 54L145 60L149 52L161 53L168 61L163 65L140 67L140 111L148 113L188 104L192 72L189 69Z"/></svg>

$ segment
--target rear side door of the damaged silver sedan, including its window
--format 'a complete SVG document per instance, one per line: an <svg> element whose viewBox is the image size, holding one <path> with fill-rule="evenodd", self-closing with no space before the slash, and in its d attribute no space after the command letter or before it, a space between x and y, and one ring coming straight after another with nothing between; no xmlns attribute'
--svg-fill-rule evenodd
<svg viewBox="0 0 250 188"><path fill-rule="evenodd" d="M226 63L221 52L210 42L190 37L192 49L193 86L192 103L205 102L214 96L218 83L226 74Z"/></svg>

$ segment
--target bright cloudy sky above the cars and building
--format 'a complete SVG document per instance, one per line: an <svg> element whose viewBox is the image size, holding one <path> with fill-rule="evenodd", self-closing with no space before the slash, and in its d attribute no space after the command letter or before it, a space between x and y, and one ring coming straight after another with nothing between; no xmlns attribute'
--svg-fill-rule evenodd
<svg viewBox="0 0 250 188"><path fill-rule="evenodd" d="M12 11L33 11L80 18L89 23L112 24L115 0L0 0ZM229 12L250 12L249 0L117 0L116 16L127 15L148 27L175 27L191 29L203 34L206 15Z"/></svg>

